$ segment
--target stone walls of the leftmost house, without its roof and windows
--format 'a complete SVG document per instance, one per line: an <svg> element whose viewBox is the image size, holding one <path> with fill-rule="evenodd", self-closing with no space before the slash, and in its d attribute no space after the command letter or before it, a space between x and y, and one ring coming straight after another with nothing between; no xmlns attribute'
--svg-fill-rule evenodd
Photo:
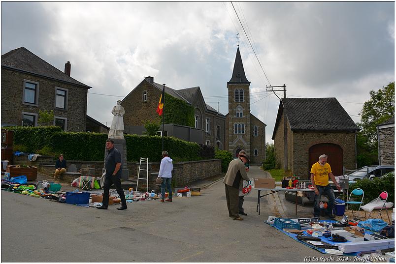
<svg viewBox="0 0 396 264"><path fill-rule="evenodd" d="M38 106L23 104L24 80L38 83ZM68 90L66 110L55 108L56 87ZM38 110L54 110L55 117L67 118L67 131L83 132L87 92L87 88L1 68L1 123L22 125L22 112L38 115Z"/></svg>

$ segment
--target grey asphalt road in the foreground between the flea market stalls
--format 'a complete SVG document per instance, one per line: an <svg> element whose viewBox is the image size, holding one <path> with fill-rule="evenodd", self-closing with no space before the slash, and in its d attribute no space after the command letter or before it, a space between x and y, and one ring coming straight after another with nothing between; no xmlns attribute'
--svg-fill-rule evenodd
<svg viewBox="0 0 396 264"><path fill-rule="evenodd" d="M263 174L251 167L249 176ZM172 203L145 201L108 210L1 192L2 262L303 262L323 257L268 226L271 196L256 212L245 198L244 221L228 216L224 184Z"/></svg>

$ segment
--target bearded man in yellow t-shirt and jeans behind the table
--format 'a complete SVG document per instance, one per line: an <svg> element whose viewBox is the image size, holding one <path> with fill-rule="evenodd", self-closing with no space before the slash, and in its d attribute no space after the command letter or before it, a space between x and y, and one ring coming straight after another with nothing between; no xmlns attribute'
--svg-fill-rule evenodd
<svg viewBox="0 0 396 264"><path fill-rule="evenodd" d="M319 162L312 165L311 168L311 181L315 190L315 205L314 205L314 217L320 217L320 197L325 194L329 199L329 204L326 210L326 215L330 218L334 218L333 207L334 207L334 191L329 185L329 178L335 183L335 186L340 191L341 188L335 180L334 175L331 173L330 164L327 163L327 155L323 154L319 157Z"/></svg>

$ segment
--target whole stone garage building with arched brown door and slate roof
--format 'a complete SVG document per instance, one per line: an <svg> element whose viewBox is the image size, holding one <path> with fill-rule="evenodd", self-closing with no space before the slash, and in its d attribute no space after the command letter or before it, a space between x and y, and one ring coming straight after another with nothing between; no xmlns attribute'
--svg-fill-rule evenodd
<svg viewBox="0 0 396 264"><path fill-rule="evenodd" d="M284 164L283 103L286 104L288 170L307 178L321 154L329 156L334 176L342 175L343 166L356 169L359 127L335 98L282 98L272 134L281 168Z"/></svg>

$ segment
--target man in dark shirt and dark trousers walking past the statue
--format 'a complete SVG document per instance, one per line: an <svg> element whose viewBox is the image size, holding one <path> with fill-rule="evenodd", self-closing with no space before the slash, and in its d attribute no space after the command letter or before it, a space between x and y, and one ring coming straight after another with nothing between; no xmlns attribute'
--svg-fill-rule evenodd
<svg viewBox="0 0 396 264"><path fill-rule="evenodd" d="M109 190L112 184L116 187L117 193L121 198L121 207L117 209L127 209L127 200L125 200L124 190L121 188L121 154L120 151L114 147L114 141L111 139L106 141L104 168L106 169L106 179L103 186L103 202L102 206L99 206L98 209L107 209L109 205Z"/></svg>

